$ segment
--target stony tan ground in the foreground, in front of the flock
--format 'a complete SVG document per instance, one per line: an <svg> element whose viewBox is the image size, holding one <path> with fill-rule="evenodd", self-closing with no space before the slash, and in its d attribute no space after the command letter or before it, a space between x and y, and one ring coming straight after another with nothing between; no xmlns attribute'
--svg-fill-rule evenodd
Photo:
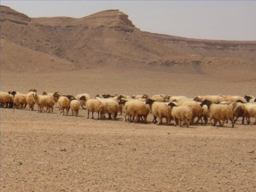
<svg viewBox="0 0 256 192"><path fill-rule="evenodd" d="M1 191L256 190L253 125L187 128L57 112L1 109Z"/></svg>

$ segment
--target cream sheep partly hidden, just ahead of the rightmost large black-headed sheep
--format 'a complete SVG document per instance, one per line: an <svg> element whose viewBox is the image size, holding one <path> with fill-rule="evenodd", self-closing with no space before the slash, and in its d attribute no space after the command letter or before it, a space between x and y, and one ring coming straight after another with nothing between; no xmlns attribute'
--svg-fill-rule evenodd
<svg viewBox="0 0 256 192"><path fill-rule="evenodd" d="M198 118L196 123L198 123L199 120L201 120L201 122L203 124L202 107L200 106L199 102L190 101L190 100L181 100L177 106L189 106L192 109L192 112L193 112L193 116L192 116L192 119L191 119L191 124L194 123L195 117Z"/></svg>

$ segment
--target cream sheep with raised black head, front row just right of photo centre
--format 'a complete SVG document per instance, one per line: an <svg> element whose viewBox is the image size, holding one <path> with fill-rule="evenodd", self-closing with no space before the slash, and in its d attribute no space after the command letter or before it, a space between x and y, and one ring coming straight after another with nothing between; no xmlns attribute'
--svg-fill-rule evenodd
<svg viewBox="0 0 256 192"><path fill-rule="evenodd" d="M156 123L156 118L159 118L159 122L157 123L162 124L162 120L165 117L166 125L169 124L169 119L171 117L171 108L164 102L158 102L152 99L148 99L146 104L150 106L151 113L154 115L153 123Z"/></svg>

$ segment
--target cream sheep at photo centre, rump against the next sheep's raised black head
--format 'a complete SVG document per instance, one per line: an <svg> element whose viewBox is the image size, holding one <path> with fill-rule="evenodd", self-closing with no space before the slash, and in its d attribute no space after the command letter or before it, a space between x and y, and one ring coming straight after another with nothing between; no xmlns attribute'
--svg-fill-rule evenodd
<svg viewBox="0 0 256 192"><path fill-rule="evenodd" d="M124 121L127 121L126 116L132 116L133 118L130 118L130 122L132 119L134 119L134 123L137 123L140 119L140 117L143 117L143 122L147 123L147 116L150 112L150 108L148 105L146 105L145 102L140 100L121 100L119 101L119 105L124 105Z"/></svg>

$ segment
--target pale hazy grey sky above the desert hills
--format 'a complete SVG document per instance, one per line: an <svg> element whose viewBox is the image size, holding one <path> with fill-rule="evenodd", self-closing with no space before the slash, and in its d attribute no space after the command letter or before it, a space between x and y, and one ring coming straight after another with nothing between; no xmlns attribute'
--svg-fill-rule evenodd
<svg viewBox="0 0 256 192"><path fill-rule="evenodd" d="M3 1L28 17L119 9L142 31L188 38L256 40L256 1Z"/></svg>

